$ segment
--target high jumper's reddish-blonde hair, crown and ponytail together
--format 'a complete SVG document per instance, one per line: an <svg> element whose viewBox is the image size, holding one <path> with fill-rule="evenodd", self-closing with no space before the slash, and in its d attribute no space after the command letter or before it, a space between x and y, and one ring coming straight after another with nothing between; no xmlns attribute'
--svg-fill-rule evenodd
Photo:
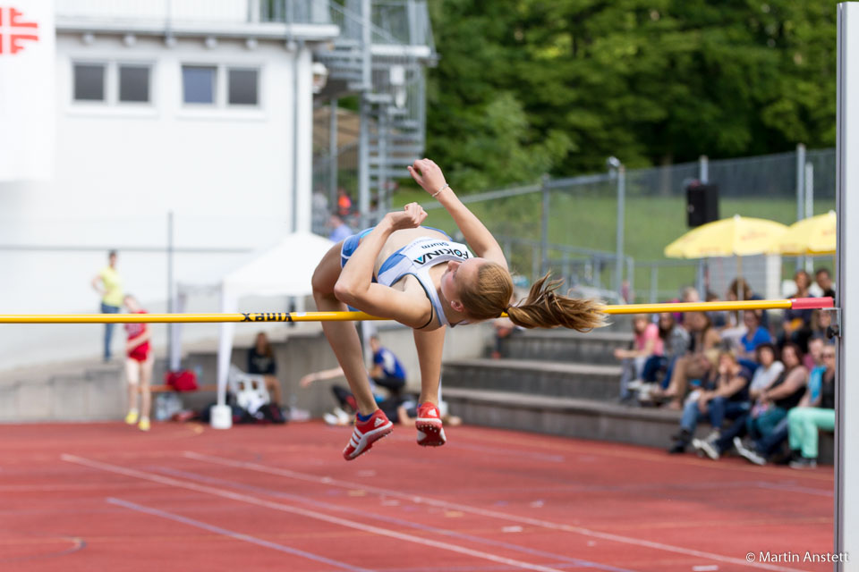
<svg viewBox="0 0 859 572"><path fill-rule="evenodd" d="M558 294L564 281L549 281L549 273L532 284L528 297L512 306L513 280L502 265L487 262L478 269L477 281L460 292L465 313L475 320L497 318L506 312L510 321L523 328L563 326L590 332L605 325L602 304L591 299L575 299Z"/></svg>

